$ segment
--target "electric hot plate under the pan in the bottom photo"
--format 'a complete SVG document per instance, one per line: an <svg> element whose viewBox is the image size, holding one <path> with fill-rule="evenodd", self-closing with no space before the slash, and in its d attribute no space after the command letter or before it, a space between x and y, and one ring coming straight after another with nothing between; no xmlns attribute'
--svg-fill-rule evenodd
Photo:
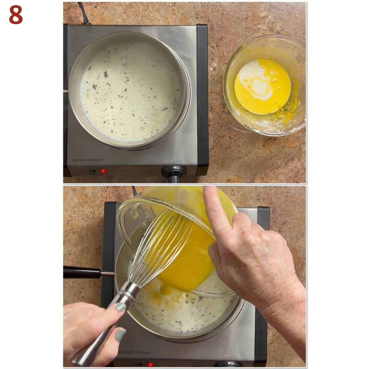
<svg viewBox="0 0 369 369"><path fill-rule="evenodd" d="M104 239L102 270L114 272L115 259L122 245L115 214L117 202L104 206ZM268 207L238 207L252 222L269 230ZM101 306L107 307L117 293L111 277L101 277ZM161 366L161 367L251 367L265 366L267 323L254 305L242 301L243 306L227 328L201 341L179 343L166 341L151 334L125 314L119 325L127 333L122 340L114 366Z"/></svg>

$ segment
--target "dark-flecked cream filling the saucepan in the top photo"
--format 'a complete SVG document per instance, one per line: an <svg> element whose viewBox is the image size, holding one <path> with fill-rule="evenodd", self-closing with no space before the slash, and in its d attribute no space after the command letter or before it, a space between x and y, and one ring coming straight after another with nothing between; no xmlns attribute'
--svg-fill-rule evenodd
<svg viewBox="0 0 369 369"><path fill-rule="evenodd" d="M151 141L174 123L182 91L171 60L149 43L127 42L92 59L80 99L97 130L129 145Z"/></svg>

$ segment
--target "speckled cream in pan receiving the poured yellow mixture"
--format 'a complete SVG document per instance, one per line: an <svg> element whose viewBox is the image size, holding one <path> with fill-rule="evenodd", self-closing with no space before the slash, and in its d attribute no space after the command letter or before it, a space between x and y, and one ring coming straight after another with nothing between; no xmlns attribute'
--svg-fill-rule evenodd
<svg viewBox="0 0 369 369"><path fill-rule="evenodd" d="M135 307L151 324L172 332L196 332L215 323L237 297L212 299L174 290L161 293L158 278L144 287L134 302Z"/></svg>

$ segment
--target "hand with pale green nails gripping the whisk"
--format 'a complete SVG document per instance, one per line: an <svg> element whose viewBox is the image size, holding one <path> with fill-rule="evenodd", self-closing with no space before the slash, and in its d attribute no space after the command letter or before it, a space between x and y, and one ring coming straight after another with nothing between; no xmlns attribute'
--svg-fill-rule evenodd
<svg viewBox="0 0 369 369"><path fill-rule="evenodd" d="M64 306L63 314L63 363L73 366L71 360L82 348L92 343L99 334L116 323L125 312L125 304L118 303L108 309L79 302ZM125 329L115 328L92 366L106 366L118 354L119 342Z"/></svg>

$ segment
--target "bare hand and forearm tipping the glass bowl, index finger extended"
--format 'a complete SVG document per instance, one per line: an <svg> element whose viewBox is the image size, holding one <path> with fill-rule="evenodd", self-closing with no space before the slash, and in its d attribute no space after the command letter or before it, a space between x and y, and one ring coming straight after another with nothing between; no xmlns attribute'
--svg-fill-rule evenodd
<svg viewBox="0 0 369 369"><path fill-rule="evenodd" d="M230 225L217 188L203 189L206 214L216 238L209 255L220 279L254 304L305 360L306 290L296 276L286 240L265 231L243 213Z"/></svg>

